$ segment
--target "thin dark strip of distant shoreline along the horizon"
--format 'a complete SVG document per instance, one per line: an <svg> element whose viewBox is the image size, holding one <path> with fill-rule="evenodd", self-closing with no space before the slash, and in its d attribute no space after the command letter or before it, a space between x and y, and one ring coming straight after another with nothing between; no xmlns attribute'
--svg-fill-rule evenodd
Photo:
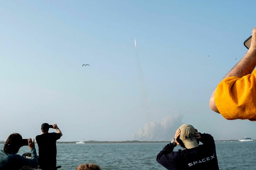
<svg viewBox="0 0 256 170"><path fill-rule="evenodd" d="M222 141L238 141L238 139L234 140L215 140L215 142ZM253 140L255 141L255 140ZM57 143L75 143L78 141L57 141ZM85 143L169 143L170 141L84 141ZM5 143L5 141L0 141L0 143ZM35 142L36 143L36 142Z"/></svg>

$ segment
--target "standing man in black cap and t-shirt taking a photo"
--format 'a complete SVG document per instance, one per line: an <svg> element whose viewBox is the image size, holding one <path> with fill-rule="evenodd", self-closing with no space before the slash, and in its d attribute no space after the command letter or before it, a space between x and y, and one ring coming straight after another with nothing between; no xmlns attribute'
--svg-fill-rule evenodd
<svg viewBox="0 0 256 170"><path fill-rule="evenodd" d="M56 169L57 148L56 141L61 138L62 133L57 124L53 124L51 128L56 129L57 133L48 133L49 124L43 123L41 126L42 134L36 136L36 142L39 149L38 165L43 170Z"/></svg>

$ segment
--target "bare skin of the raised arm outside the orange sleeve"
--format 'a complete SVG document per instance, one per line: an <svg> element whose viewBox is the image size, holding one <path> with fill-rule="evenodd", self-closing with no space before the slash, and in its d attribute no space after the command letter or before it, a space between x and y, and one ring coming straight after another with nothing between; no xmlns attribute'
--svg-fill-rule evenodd
<svg viewBox="0 0 256 170"><path fill-rule="evenodd" d="M245 56L240 60L224 78L236 76L243 77L247 74L251 74L253 69L256 66L256 28L252 30L252 41L251 46ZM211 98L210 98L210 108L217 113L220 113L216 107L214 94L216 89L214 90Z"/></svg>

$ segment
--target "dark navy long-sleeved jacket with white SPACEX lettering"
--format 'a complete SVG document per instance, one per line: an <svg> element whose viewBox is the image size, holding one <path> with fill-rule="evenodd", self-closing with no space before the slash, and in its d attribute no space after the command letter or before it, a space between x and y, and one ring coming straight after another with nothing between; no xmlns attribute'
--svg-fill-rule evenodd
<svg viewBox="0 0 256 170"><path fill-rule="evenodd" d="M166 145L156 160L169 170L218 170L214 139L210 134L201 134L203 145L191 149L173 151L173 145Z"/></svg>

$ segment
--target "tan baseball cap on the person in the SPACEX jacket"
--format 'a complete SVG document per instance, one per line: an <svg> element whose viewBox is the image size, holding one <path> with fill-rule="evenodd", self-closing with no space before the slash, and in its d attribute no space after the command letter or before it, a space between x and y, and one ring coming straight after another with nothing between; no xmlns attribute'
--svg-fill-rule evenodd
<svg viewBox="0 0 256 170"><path fill-rule="evenodd" d="M179 138L184 143L187 149L191 149L193 147L198 147L197 139L195 138L195 128L189 124L183 124L179 127L181 130L181 135Z"/></svg>

